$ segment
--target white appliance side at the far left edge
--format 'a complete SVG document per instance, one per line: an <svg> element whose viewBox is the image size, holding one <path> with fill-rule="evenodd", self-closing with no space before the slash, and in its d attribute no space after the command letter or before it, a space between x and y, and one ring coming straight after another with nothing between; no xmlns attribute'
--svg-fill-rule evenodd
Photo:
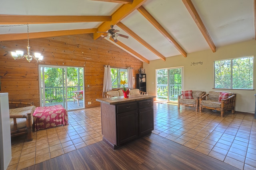
<svg viewBox="0 0 256 170"><path fill-rule="evenodd" d="M12 159L8 93L0 93L0 170L6 170Z"/></svg>

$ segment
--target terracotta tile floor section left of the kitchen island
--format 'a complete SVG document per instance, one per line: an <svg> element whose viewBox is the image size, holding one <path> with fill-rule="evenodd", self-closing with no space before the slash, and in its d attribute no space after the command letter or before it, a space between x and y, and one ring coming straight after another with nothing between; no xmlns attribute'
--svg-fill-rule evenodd
<svg viewBox="0 0 256 170"><path fill-rule="evenodd" d="M12 160L8 170L21 170L102 141L100 107L68 111L66 126L33 133L33 141L25 136L12 139Z"/></svg>

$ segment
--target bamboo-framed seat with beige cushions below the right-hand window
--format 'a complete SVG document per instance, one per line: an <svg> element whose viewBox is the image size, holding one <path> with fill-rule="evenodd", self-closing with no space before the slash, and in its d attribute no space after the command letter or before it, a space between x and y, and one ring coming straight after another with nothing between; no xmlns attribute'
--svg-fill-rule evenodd
<svg viewBox="0 0 256 170"><path fill-rule="evenodd" d="M220 111L220 116L224 116L225 111L231 110L231 113L235 113L236 94L232 92L222 92L228 94L226 99L220 99L221 92L210 91L208 94L199 98L199 111L202 112L202 108L212 109Z"/></svg>

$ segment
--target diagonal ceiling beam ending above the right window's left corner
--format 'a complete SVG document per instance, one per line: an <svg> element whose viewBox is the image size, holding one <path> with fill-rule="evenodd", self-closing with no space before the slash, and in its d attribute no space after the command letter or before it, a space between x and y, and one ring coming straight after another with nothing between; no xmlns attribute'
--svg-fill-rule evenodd
<svg viewBox="0 0 256 170"><path fill-rule="evenodd" d="M210 46L213 52L216 52L216 46L214 45L212 38L210 37L206 27L204 26L203 21L201 20L198 12L196 11L196 8L194 7L193 3L191 0L182 0L183 4L186 6L188 12L192 16L193 20L196 22L196 25L200 29L202 35L204 36L204 39Z"/></svg>

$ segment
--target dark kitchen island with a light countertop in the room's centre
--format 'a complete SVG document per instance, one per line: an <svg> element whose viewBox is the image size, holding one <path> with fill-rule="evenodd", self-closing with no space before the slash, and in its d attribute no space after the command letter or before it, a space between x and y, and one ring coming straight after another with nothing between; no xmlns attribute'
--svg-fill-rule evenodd
<svg viewBox="0 0 256 170"><path fill-rule="evenodd" d="M100 102L103 141L117 149L154 129L156 96L132 95L96 99Z"/></svg>

